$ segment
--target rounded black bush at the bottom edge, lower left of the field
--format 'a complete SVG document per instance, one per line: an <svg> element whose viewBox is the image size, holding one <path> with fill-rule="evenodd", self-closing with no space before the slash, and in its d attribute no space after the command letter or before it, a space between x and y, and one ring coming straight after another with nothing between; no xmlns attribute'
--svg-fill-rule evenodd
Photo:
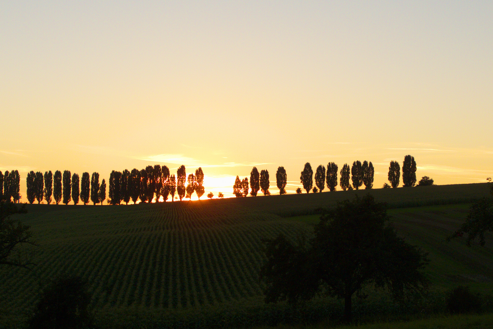
<svg viewBox="0 0 493 329"><path fill-rule="evenodd" d="M87 283L76 276L61 276L41 293L30 329L82 329L92 327Z"/></svg>

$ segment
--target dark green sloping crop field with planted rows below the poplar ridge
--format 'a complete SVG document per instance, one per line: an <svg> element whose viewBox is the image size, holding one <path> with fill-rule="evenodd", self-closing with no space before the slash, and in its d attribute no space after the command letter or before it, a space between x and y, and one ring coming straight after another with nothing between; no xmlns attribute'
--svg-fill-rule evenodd
<svg viewBox="0 0 493 329"><path fill-rule="evenodd" d="M25 319L39 283L61 273L90 283L93 306L106 313L197 310L221 305L262 305L258 269L262 238L295 237L338 200L368 191L248 197L129 206L28 205L16 215L32 227L35 270L0 268L0 326ZM445 237L468 211L460 203L488 195L486 184L375 189L397 231L422 246L431 259L426 272L439 289L458 284L492 292L493 245L465 247ZM441 205L443 203L455 203ZM492 241L488 236L488 241Z"/></svg>

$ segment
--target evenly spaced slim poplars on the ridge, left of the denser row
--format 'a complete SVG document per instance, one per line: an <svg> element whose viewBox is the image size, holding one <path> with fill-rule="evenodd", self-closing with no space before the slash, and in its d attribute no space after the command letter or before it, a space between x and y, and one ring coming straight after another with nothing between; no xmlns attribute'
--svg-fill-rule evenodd
<svg viewBox="0 0 493 329"><path fill-rule="evenodd" d="M80 183L80 188L79 188ZM68 204L73 201L76 205L79 198L84 205L89 201L93 204L101 203L106 199L106 182L103 180L99 183L99 173L94 172L89 179L89 173L82 173L82 179L79 180L78 174L70 174L69 170L64 170L63 176L60 170L46 171L44 175L41 172L31 171L26 178L26 193L29 203L41 203L43 198L47 204L55 201L58 205L60 201ZM53 199L52 199L53 195Z"/></svg>

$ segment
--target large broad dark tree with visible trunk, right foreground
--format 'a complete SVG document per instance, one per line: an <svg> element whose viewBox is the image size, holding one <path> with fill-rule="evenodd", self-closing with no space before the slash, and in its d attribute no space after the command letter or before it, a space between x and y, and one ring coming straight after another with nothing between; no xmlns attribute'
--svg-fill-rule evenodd
<svg viewBox="0 0 493 329"><path fill-rule="evenodd" d="M344 299L350 321L352 295L363 288L387 288L396 298L422 292L428 285L421 272L426 254L398 237L387 221L383 203L356 196L322 215L308 243L301 238L293 244L283 235L266 240L260 271L265 301L296 303L327 294Z"/></svg>

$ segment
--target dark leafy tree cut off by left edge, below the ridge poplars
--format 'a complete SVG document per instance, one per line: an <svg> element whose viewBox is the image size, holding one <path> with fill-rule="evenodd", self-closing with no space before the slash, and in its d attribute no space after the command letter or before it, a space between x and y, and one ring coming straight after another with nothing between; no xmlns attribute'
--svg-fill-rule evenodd
<svg viewBox="0 0 493 329"><path fill-rule="evenodd" d="M26 213L23 206L17 208L12 202L0 202L0 265L10 265L31 269L31 255L22 248L23 245L33 245L33 233L29 226L23 225L19 220L10 218L14 214Z"/></svg>

